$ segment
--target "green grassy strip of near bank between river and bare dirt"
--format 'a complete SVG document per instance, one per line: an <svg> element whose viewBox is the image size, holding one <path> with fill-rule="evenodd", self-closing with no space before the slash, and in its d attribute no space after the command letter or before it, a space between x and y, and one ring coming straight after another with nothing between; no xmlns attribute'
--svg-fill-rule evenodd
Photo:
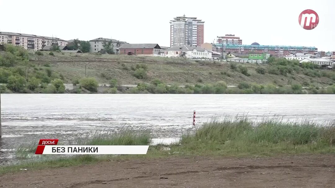
<svg viewBox="0 0 335 188"><path fill-rule="evenodd" d="M95 133L82 137L76 143L85 145L147 145L151 141L147 131L132 130L118 133ZM36 147L36 146L35 146ZM171 150L163 151L163 147ZM20 153L31 153L31 148ZM295 154L334 154L335 124L316 124L312 121L283 122L280 119L263 119L253 122L243 118L224 118L205 123L194 133L186 134L177 143L150 146L147 155L73 156L58 159L39 159L18 165L0 167L0 173L19 169L42 169L91 164L106 160L134 158L162 158L172 156L228 156L255 157ZM21 154L22 156L22 154ZM24 156L24 155L23 155Z"/></svg>

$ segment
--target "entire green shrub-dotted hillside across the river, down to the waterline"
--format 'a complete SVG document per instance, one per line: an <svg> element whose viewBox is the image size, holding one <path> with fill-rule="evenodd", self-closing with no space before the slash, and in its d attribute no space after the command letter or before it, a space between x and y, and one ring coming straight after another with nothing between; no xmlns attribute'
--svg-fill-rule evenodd
<svg viewBox="0 0 335 188"><path fill-rule="evenodd" d="M80 88L97 92L98 84L111 85L105 93L335 93L333 70L284 58L269 62L31 52L6 45L0 52L0 90L63 93L63 83L73 83L78 93L85 92ZM124 89L121 84L138 86Z"/></svg>

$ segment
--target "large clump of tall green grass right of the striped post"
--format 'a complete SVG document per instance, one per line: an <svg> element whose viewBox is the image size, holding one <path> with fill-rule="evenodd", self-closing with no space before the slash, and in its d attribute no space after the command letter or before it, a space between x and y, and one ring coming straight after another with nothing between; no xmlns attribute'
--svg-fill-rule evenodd
<svg viewBox="0 0 335 188"><path fill-rule="evenodd" d="M313 121L286 121L280 118L265 119L253 122L247 117L236 117L231 120L226 117L221 121L216 119L205 123L194 134L182 136L180 143L191 142L218 143L239 141L245 144L271 143L278 144L335 144L334 123L317 124Z"/></svg>

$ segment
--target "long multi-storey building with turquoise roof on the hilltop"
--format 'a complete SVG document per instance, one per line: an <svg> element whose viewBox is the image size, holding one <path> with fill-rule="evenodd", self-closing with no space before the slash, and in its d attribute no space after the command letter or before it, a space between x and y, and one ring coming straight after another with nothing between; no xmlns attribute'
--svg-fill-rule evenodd
<svg viewBox="0 0 335 188"><path fill-rule="evenodd" d="M284 57L285 55L294 53L310 53L317 54L318 48L306 47L306 46L269 46L260 45L257 42L251 45L240 45L240 44L214 44L214 51L224 52L235 52L235 53L249 53L249 52L266 52L270 53L274 57Z"/></svg>

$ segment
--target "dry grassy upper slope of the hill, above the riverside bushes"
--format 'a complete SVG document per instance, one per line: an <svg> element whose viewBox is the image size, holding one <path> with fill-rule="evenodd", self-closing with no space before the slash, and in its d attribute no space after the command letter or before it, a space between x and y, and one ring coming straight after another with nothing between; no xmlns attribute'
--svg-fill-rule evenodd
<svg viewBox="0 0 335 188"><path fill-rule="evenodd" d="M94 77L98 83L110 83L113 78L118 80L118 84L142 83L142 74L138 75L141 71L138 71L137 75L134 75L134 72L143 67L145 83L159 79L165 84L215 85L221 81L227 85L240 84L241 89L251 88L251 86L241 86L241 82L259 84L260 81L262 85L271 84L277 87L290 87L292 82L292 85L299 84L310 89L318 89L317 81L319 87L335 85L334 71L316 69L313 65L303 68L298 66L297 62L285 59L277 59L276 63L271 64L254 64L89 53L54 52L54 55L49 55L49 52L42 52L42 55L29 55L27 75L30 77L36 71L51 69L60 75L58 77L64 83L73 83L85 77L85 65L86 77ZM14 66L25 69L24 62Z"/></svg>

